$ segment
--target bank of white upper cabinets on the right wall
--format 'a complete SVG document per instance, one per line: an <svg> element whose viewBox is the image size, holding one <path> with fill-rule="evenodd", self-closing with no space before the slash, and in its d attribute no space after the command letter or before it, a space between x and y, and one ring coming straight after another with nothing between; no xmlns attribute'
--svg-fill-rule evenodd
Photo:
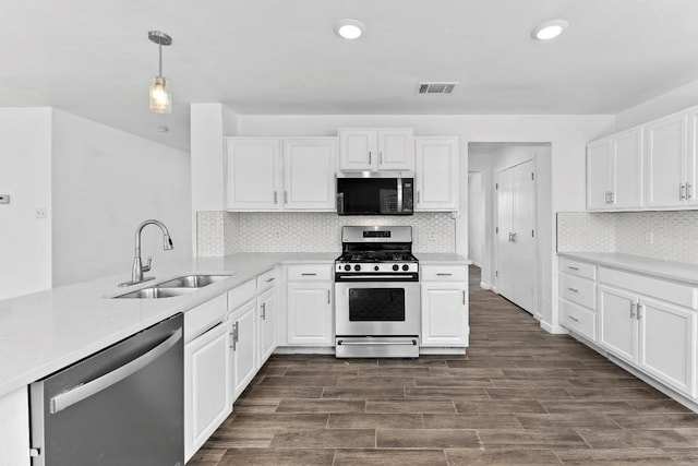
<svg viewBox="0 0 698 466"><path fill-rule="evenodd" d="M587 210L696 208L698 107L587 146Z"/></svg>

